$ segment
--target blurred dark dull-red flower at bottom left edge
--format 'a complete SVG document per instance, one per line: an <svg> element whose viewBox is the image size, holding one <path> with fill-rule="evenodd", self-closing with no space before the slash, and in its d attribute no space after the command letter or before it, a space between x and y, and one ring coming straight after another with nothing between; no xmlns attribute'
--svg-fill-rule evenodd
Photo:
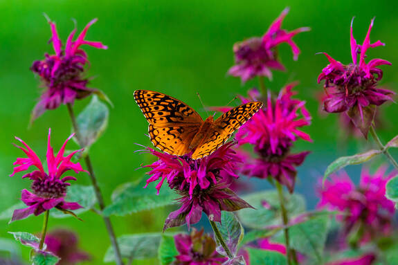
<svg viewBox="0 0 398 265"><path fill-rule="evenodd" d="M58 229L46 235L47 251L60 257L57 265L73 265L91 259L88 253L78 248L78 237L71 230Z"/></svg>

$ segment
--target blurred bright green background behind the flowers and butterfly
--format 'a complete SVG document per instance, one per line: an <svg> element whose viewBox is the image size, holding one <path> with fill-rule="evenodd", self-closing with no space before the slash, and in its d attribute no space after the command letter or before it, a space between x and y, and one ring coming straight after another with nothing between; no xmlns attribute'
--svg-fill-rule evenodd
<svg viewBox="0 0 398 265"><path fill-rule="evenodd" d="M239 79L226 76L233 64L232 46L246 37L262 35L273 19L290 6L291 11L283 28L293 30L302 26L312 28L295 40L302 51L297 62L292 60L289 47L280 47L280 57L287 72L275 72L269 89L277 90L293 80L300 81L296 91L307 101L313 123L305 131L314 143L299 141L298 150L309 149L312 154L300 168L298 192L305 193L314 207L315 182L327 163L341 154L358 149L356 140L338 141L336 116L322 116L318 111L316 94L322 91L316 77L327 64L327 51L336 60L350 62L350 21L354 21L354 36L363 41L372 17L376 17L372 42L381 39L385 47L371 49L370 57L392 62L382 66L383 84L396 90L398 75L398 17L397 1L1 1L0 23L0 210L17 203L22 188L29 181L21 174L10 178L12 163L21 156L12 146L13 136L28 143L40 157L44 157L48 127L53 130L53 146L58 149L71 133L66 107L47 111L28 129L30 111L39 96L39 80L29 71L34 60L44 53L53 53L48 44L51 32L45 12L56 21L62 39L78 21L78 30L98 17L87 39L109 46L107 51L87 47L91 67L88 75L95 77L91 86L102 89L114 103L109 127L98 143L91 148L91 158L101 188L109 197L118 185L142 177L145 170L136 170L150 157L134 153L134 143L150 145L144 135L147 122L133 99L136 89L151 89L173 95L206 115L196 93L208 106L229 102L237 93L246 93L257 80L242 86ZM76 103L82 109L89 100ZM384 126L380 130L384 140L398 131L397 106L383 106ZM340 144L338 144L340 143ZM363 140L361 140L363 143ZM343 145L347 144L347 147ZM75 148L71 143L69 149ZM77 183L89 184L80 174ZM151 188L154 189L152 186ZM154 192L156 192L154 190ZM141 212L129 217L113 217L118 235L134 232L159 232L170 209ZM50 228L72 228L80 235L81 246L93 255L92 264L102 264L109 239L102 220L92 213L82 214L83 222L75 219L51 219ZM10 237L7 231L39 232L42 217L31 217L8 224L0 221L0 237ZM24 248L27 257L28 248ZM156 261L134 264L156 264Z"/></svg>

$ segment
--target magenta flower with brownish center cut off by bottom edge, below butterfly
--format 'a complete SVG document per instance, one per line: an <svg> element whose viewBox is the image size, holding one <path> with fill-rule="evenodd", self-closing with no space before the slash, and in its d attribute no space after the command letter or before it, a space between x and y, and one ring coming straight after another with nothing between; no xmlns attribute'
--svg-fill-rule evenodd
<svg viewBox="0 0 398 265"><path fill-rule="evenodd" d="M174 242L179 252L173 263L176 265L219 265L228 259L217 253L215 240L203 229L192 228L190 235L176 235Z"/></svg>

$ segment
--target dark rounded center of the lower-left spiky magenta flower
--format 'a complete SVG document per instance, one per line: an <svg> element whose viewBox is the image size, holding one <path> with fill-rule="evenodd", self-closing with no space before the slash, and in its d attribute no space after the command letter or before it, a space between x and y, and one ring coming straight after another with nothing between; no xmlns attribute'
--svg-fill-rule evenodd
<svg viewBox="0 0 398 265"><path fill-rule="evenodd" d="M61 198L66 195L68 185L59 179L50 180L45 179L44 181L37 179L32 183L33 192L42 198Z"/></svg>

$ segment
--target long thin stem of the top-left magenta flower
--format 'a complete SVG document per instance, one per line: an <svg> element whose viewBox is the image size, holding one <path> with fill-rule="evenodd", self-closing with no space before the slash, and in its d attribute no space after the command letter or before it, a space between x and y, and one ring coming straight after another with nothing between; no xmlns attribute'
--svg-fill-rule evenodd
<svg viewBox="0 0 398 265"><path fill-rule="evenodd" d="M78 123L76 122L75 113L73 112L73 107L70 103L66 104L66 107L68 107L68 112L69 112L69 116L71 117L71 122L73 125L73 130L75 131L76 139L78 140L80 147L82 147L82 144L81 144L82 138L80 135ZM87 154L84 157L84 161L86 162L87 170L89 171L89 176L91 179L91 183L93 185L94 192L96 193L98 205L102 212L102 210L105 209L105 202L104 202L104 198L102 197L102 192L100 190L100 186L98 185L98 181L96 179L96 174L94 174L94 169L93 169L93 165L91 164L91 159L90 159L89 154ZM111 239L112 248L114 248L116 264L123 265L122 255L120 255L120 248L118 245L118 241L116 240L116 235L115 235L114 227L112 226L112 223L111 223L111 219L109 219L109 217L105 217L102 214L101 214L101 216L102 216L102 219L104 220L105 226L107 228L109 238Z"/></svg>

